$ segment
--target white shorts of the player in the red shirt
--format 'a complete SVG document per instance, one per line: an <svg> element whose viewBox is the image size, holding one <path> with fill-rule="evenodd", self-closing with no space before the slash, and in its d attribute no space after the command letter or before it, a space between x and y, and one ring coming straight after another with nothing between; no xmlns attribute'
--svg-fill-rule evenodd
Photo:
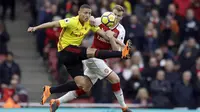
<svg viewBox="0 0 200 112"><path fill-rule="evenodd" d="M108 67L102 59L89 58L84 60L83 64L85 66L84 75L88 76L93 84L95 84L98 79L101 80L112 72L110 67Z"/></svg>

